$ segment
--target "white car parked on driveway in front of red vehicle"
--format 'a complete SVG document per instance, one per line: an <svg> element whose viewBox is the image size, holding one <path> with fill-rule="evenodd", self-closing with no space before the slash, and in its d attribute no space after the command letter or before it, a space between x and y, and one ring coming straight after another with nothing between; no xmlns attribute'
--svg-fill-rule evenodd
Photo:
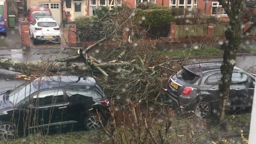
<svg viewBox="0 0 256 144"><path fill-rule="evenodd" d="M55 18L53 17L36 17L33 23L30 23L30 38L34 44L38 41L50 40L60 43L60 31Z"/></svg>

